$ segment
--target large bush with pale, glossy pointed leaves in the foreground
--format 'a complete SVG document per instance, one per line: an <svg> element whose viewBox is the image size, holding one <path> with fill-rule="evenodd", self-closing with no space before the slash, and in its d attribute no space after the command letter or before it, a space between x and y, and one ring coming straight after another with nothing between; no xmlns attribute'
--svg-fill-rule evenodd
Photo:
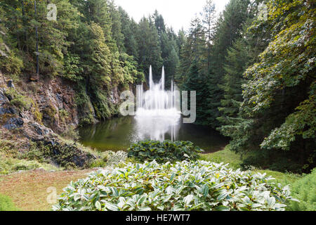
<svg viewBox="0 0 316 225"><path fill-rule="evenodd" d="M284 210L289 186L206 161L129 163L64 188L53 210Z"/></svg>

